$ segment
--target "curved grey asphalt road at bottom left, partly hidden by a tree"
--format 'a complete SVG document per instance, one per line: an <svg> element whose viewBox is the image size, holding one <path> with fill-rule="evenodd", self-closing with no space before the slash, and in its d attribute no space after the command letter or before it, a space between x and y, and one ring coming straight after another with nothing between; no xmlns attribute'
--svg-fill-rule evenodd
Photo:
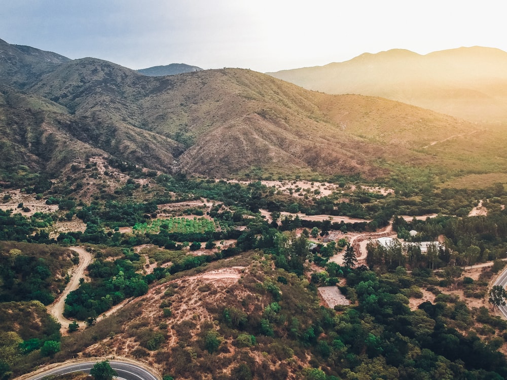
<svg viewBox="0 0 507 380"><path fill-rule="evenodd" d="M83 363L73 363L66 364L58 367L56 369L50 369L48 371L38 373L37 375L33 375L30 377L23 376L26 380L41 380L45 376L49 375L62 375L65 373L72 372L85 372L90 373L90 369L92 369L93 365L96 362L83 362ZM121 362L121 361L110 361L109 364L111 367L118 373L118 378L125 380L159 380L159 378L138 365Z"/></svg>

